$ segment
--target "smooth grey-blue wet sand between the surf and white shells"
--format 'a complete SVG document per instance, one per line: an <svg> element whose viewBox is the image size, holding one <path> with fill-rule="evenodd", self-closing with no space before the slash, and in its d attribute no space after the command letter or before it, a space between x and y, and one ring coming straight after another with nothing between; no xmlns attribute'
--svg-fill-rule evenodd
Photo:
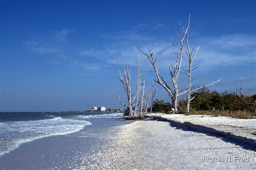
<svg viewBox="0 0 256 170"><path fill-rule="evenodd" d="M82 157L98 152L116 133L115 126L129 122L115 118L90 119L92 125L64 136L52 136L22 144L0 157L0 169L73 169ZM112 130L110 130L112 129Z"/></svg>

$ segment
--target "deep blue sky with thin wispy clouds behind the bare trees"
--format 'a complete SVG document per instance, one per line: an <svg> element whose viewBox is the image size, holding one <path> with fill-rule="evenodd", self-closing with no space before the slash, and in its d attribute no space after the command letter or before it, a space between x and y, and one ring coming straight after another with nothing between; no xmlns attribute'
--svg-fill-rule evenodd
<svg viewBox="0 0 256 170"><path fill-rule="evenodd" d="M243 80L244 93L255 94L255 1L1 0L0 111L121 108L113 93L124 97L117 76L125 59L134 69L140 55L150 86L152 67L136 46L151 47L170 80L173 24L186 25L188 13L191 47L200 47L193 84L221 79L210 89L223 92Z"/></svg>

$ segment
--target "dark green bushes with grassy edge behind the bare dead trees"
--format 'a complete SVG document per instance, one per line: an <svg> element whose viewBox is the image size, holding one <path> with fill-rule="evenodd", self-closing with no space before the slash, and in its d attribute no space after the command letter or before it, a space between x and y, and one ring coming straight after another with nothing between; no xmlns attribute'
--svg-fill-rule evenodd
<svg viewBox="0 0 256 170"><path fill-rule="evenodd" d="M256 116L256 95L239 96L232 93L219 94L202 88L192 94L194 99L190 105L190 112L186 110L186 102L179 101L179 113L186 115L214 115L230 116L235 118L252 118ZM152 110L154 112L170 113L171 104L163 100L154 101Z"/></svg>

